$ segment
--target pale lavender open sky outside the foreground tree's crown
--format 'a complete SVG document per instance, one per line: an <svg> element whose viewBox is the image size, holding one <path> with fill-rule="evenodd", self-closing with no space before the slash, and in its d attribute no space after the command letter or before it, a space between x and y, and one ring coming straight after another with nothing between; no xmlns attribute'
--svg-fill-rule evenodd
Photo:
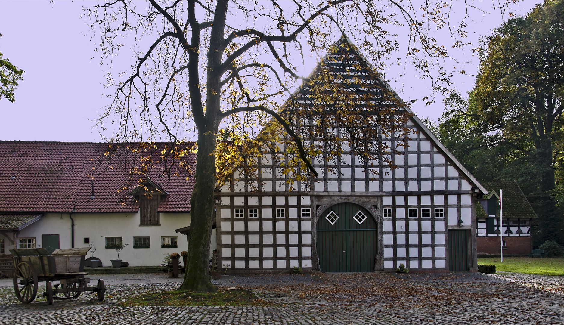
<svg viewBox="0 0 564 325"><path fill-rule="evenodd" d="M512 7L512 12L524 15L539 2L521 1ZM491 4L491 0L474 1L474 5L481 7ZM100 108L110 103L102 94L111 91L103 86L105 66L94 51L97 38L91 39L90 27L81 18L82 8L91 5L94 2L0 1L0 52L4 59L25 71L25 80L16 90L16 102L0 100L0 140L102 140L93 127ZM490 35L492 28L503 24L499 11L470 14L473 21L468 21L468 41L474 46L478 46L480 37ZM456 90L463 94L473 88L477 71L478 60L470 48L451 51L458 62L465 62L456 63L456 70L464 69L466 75L453 79ZM398 57L402 55L398 53ZM129 72L127 67L134 60L117 59L114 67ZM430 95L428 81L418 80L403 67L390 69L387 74L391 87L404 100L419 99L413 106L419 117L438 119L443 111L443 97L437 95L430 106L421 102L423 96Z"/></svg>

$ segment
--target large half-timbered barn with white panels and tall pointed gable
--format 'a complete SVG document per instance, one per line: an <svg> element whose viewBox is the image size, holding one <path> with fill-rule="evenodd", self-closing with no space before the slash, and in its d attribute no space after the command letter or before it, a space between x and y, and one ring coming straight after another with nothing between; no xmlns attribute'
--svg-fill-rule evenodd
<svg viewBox="0 0 564 325"><path fill-rule="evenodd" d="M329 73L362 75L362 82L392 91L346 38L340 42L323 59ZM296 91L297 100L307 87ZM359 272L403 263L412 271L477 270L475 207L488 191L417 116L407 127L408 146L391 156L396 169L343 147L334 164L312 161L319 177L307 184L289 187L281 171L284 155L271 152L258 157L258 179L234 173L217 190L223 269ZM392 148L398 142L381 137Z"/></svg>

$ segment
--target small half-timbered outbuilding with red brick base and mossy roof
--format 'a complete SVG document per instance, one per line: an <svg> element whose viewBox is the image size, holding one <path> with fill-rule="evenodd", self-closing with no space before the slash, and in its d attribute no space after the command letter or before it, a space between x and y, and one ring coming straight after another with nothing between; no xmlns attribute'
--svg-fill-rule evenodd
<svg viewBox="0 0 564 325"><path fill-rule="evenodd" d="M517 182L486 181L482 185L489 192L476 205L478 255L499 255L500 240L503 240L504 254L530 253L531 222L537 216ZM500 210L500 189L503 190L503 215Z"/></svg>

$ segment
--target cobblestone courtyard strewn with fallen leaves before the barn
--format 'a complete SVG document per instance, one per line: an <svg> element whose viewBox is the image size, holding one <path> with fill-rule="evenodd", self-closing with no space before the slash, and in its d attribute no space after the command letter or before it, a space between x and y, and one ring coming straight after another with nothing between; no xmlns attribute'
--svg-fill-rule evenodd
<svg viewBox="0 0 564 325"><path fill-rule="evenodd" d="M100 275L108 291L76 299L16 300L0 281L0 324L564 324L564 276L477 273L222 276L219 287L249 289L275 306L126 307L144 291L170 290L163 274ZM98 279L98 276L91 276ZM95 283L95 281L92 281ZM45 283L41 283L43 286Z"/></svg>

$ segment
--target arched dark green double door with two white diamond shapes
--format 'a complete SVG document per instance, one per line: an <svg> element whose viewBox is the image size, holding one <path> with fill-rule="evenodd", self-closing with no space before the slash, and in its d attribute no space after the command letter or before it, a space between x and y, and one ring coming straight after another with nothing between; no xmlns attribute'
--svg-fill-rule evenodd
<svg viewBox="0 0 564 325"><path fill-rule="evenodd" d="M321 272L372 272L378 249L376 221L354 203L325 210L317 222Z"/></svg>

